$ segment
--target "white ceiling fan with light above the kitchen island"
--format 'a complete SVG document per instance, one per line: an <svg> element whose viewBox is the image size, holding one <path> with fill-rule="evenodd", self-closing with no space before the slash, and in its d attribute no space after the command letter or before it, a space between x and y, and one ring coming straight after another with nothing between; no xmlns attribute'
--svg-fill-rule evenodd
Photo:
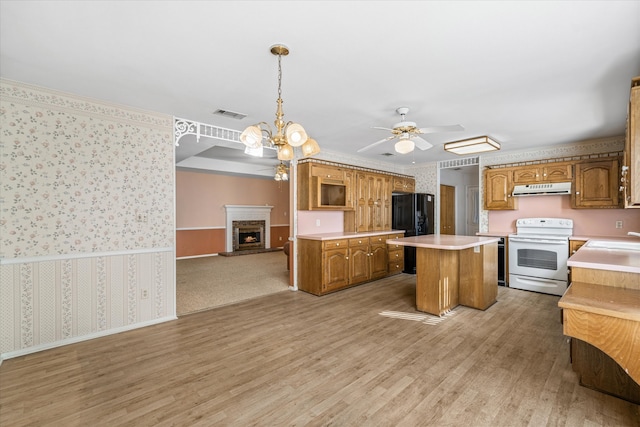
<svg viewBox="0 0 640 427"><path fill-rule="evenodd" d="M427 133L437 133L437 132L451 132L451 131L460 131L464 130L464 128L460 125L449 125L449 126L431 126L426 128L418 128L415 122L409 122L405 120L406 114L409 112L408 107L400 107L396 109L396 112L400 114L402 121L400 123L396 123L393 125L393 128L384 128L374 126L374 129L382 129L387 130L392 133L391 136L381 139L380 141L376 141L373 144L369 144L366 147L360 148L357 152L361 153L363 151L367 151L370 148L373 148L377 145L382 144L383 142L391 141L392 139L398 139L398 142L395 144L395 149L400 154L407 154L413 151L415 147L418 147L421 150L428 150L433 147L433 144L421 138L419 135L424 135Z"/></svg>

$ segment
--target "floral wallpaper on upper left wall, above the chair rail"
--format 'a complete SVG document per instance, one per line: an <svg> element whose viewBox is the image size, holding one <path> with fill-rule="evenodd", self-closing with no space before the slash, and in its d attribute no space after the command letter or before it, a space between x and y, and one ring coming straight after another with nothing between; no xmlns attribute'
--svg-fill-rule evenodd
<svg viewBox="0 0 640 427"><path fill-rule="evenodd" d="M0 82L0 256L173 246L172 117Z"/></svg>

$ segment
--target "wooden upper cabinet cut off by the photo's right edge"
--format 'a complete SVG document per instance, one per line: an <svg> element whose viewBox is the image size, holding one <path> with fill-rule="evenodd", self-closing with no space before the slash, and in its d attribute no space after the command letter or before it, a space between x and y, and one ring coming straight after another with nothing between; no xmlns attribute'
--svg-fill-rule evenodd
<svg viewBox="0 0 640 427"><path fill-rule="evenodd" d="M631 82L624 166L624 206L640 208L640 76Z"/></svg>

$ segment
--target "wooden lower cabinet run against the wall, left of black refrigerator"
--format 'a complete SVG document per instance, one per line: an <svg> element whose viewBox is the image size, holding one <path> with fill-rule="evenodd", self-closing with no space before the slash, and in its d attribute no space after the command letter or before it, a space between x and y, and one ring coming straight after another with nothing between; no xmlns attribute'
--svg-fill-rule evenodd
<svg viewBox="0 0 640 427"><path fill-rule="evenodd" d="M390 273L389 254L395 256L399 250L389 251L386 241L400 237L403 235L393 233L324 241L298 239L298 288L324 295L386 277ZM391 274L404 268L404 251L395 265L401 266Z"/></svg>

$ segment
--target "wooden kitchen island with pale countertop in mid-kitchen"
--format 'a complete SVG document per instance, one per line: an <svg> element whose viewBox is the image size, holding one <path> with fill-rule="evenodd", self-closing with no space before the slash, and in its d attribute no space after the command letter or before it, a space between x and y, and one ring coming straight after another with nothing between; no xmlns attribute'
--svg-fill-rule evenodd
<svg viewBox="0 0 640 427"><path fill-rule="evenodd" d="M387 243L416 248L416 308L442 316L458 305L485 310L496 302L499 240L431 234Z"/></svg>

